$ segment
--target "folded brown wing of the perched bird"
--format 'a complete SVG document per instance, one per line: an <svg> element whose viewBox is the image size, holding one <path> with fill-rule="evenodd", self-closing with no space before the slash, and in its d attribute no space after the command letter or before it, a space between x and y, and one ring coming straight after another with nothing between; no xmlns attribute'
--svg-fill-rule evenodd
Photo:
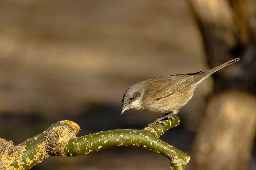
<svg viewBox="0 0 256 170"><path fill-rule="evenodd" d="M202 71L197 73L190 73L190 74L178 74L167 76L163 78L156 78L154 82L154 92L152 97L155 100L161 100L165 97L172 95L173 93L177 92L181 88L185 87L193 80L198 78L198 73L202 73Z"/></svg>

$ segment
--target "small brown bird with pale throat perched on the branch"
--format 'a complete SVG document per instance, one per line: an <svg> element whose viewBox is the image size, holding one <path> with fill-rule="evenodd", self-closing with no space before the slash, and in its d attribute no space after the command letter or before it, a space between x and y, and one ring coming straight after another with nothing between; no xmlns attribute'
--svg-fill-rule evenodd
<svg viewBox="0 0 256 170"><path fill-rule="evenodd" d="M122 113L128 109L143 110L151 113L165 113L164 116L156 119L156 122L165 125L161 121L171 118L179 112L179 108L184 106L193 96L195 88L205 78L225 66L239 61L240 58L230 60L215 68L197 73L176 74L172 76L144 80L130 86L123 97Z"/></svg>

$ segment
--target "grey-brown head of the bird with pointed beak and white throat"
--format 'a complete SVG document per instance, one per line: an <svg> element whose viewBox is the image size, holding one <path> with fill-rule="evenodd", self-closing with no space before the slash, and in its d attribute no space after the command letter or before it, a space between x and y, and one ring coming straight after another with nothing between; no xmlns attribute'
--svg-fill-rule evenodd
<svg viewBox="0 0 256 170"><path fill-rule="evenodd" d="M142 95L140 89L136 88L135 85L129 87L123 97L123 109L121 114L129 109L140 110L142 108L141 100Z"/></svg>

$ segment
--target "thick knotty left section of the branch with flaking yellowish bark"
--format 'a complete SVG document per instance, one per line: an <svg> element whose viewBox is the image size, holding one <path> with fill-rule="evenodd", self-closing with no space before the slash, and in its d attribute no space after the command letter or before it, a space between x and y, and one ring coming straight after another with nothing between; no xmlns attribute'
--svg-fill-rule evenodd
<svg viewBox="0 0 256 170"><path fill-rule="evenodd" d="M29 169L51 155L64 156L61 152L63 144L76 137L79 130L80 127L76 123L63 120L17 146L6 141L6 146L0 148L0 169Z"/></svg>

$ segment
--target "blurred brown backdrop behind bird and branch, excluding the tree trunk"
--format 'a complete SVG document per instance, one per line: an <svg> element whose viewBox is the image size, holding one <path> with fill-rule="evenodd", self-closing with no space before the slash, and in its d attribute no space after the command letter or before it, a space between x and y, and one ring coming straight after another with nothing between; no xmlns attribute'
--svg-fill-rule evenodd
<svg viewBox="0 0 256 170"><path fill-rule="evenodd" d="M78 136L143 129L161 115L121 115L126 89L148 78L209 69L204 56L186 1L2 0L0 137L17 145L59 120L78 123ZM212 89L212 78L202 82L180 109L180 126L160 139L191 156ZM47 168L167 170L170 161L146 149L116 147L50 157L31 169Z"/></svg>

